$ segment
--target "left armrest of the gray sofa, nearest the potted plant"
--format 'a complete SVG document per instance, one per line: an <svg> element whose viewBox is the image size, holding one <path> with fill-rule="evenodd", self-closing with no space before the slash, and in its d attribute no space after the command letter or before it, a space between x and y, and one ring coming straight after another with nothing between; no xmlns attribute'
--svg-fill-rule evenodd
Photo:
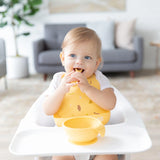
<svg viewBox="0 0 160 160"><path fill-rule="evenodd" d="M38 39L33 42L33 57L34 57L35 68L37 68L38 65L38 55L44 50L45 50L44 39Z"/></svg>

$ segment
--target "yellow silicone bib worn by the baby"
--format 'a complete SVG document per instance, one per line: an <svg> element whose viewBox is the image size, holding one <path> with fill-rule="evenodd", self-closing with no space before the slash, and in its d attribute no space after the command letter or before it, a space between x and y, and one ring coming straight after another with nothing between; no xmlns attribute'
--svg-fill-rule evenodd
<svg viewBox="0 0 160 160"><path fill-rule="evenodd" d="M100 84L95 75L92 75L87 80L91 86L100 89ZM101 120L103 124L106 124L110 118L110 111L99 107L85 93L81 92L76 85L71 87L64 96L59 110L54 114L54 120L56 125L60 127L68 118L77 116L93 116Z"/></svg>

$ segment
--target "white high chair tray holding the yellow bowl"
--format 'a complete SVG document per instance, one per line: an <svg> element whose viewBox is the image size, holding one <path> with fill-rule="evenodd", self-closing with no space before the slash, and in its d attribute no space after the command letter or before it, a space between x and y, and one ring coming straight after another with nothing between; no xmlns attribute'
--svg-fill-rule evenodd
<svg viewBox="0 0 160 160"><path fill-rule="evenodd" d="M105 137L98 137L91 145L74 145L68 142L63 128L39 127L18 132L10 145L15 155L76 155L126 154L141 152L151 146L143 128L108 125Z"/></svg>

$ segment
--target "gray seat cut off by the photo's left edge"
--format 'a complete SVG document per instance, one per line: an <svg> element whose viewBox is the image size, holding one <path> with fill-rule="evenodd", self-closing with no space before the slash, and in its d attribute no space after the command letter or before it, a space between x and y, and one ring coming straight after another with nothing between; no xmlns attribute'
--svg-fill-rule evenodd
<svg viewBox="0 0 160 160"><path fill-rule="evenodd" d="M7 80L6 80L6 48L5 42L3 39L0 39L0 78L4 77L5 89L7 89Z"/></svg>

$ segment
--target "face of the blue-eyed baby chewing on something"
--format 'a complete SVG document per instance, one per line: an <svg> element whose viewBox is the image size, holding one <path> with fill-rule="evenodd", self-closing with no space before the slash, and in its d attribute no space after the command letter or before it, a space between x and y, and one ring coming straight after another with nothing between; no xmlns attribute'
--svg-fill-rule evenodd
<svg viewBox="0 0 160 160"><path fill-rule="evenodd" d="M92 41L67 46L64 49L62 59L67 73L78 70L86 78L96 71L100 63L100 58L97 56L97 48Z"/></svg>

